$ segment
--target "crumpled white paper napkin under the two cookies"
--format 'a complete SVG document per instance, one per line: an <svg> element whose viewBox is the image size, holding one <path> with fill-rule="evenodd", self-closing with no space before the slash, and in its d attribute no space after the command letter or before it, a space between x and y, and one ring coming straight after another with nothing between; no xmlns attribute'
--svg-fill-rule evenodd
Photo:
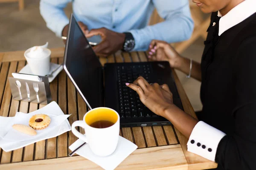
<svg viewBox="0 0 256 170"><path fill-rule="evenodd" d="M29 136L17 132L12 128L14 124L28 125L28 120L34 114L47 114L51 118L51 123L44 130L37 130L37 135ZM9 152L29 144L53 138L71 130L67 117L56 102L51 102L44 108L31 113L17 112L14 117L0 116L0 147Z"/></svg>

